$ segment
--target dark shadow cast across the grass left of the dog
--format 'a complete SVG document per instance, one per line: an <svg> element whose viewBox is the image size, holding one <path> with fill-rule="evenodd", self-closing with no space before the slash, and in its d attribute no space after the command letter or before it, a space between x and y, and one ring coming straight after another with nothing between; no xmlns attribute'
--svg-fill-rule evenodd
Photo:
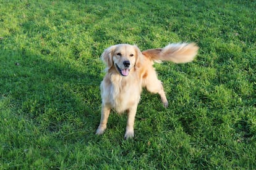
<svg viewBox="0 0 256 170"><path fill-rule="evenodd" d="M100 64L27 50L0 54L0 99L9 98L6 107L12 116L27 119L32 128L64 141L95 136L101 105Z"/></svg>

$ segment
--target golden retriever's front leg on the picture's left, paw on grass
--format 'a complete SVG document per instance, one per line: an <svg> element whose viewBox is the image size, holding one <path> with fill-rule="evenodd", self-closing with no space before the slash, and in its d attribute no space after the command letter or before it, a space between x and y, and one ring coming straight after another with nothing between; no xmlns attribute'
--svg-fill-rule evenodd
<svg viewBox="0 0 256 170"><path fill-rule="evenodd" d="M103 134L106 129L106 124L108 123L108 116L110 113L110 108L102 105L101 107L101 119L96 134L100 135Z"/></svg>

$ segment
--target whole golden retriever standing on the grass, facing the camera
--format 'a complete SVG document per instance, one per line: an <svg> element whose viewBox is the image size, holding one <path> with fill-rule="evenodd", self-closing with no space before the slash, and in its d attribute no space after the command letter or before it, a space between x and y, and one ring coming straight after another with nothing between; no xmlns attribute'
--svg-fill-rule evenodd
<svg viewBox="0 0 256 170"><path fill-rule="evenodd" d="M158 49L140 51L130 44L117 44L105 49L101 59L106 63L106 75L100 84L101 119L96 134L105 132L111 109L117 113L127 111L125 139L134 137L134 120L142 88L158 93L164 107L168 100L163 85L157 78L154 62L187 63L194 60L198 46L195 43L176 43Z"/></svg>

